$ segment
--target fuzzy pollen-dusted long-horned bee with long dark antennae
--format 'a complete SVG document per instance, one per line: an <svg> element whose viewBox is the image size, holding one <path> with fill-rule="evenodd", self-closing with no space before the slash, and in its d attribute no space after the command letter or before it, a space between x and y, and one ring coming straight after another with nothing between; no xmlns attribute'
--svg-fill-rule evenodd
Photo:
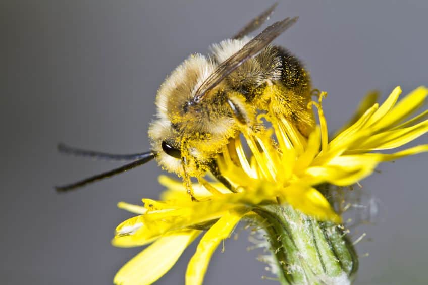
<svg viewBox="0 0 428 285"><path fill-rule="evenodd" d="M184 178L211 172L232 191L218 171L215 156L243 130L257 131L256 115L271 111L293 122L303 136L314 125L310 78L301 62L271 42L290 28L297 17L285 18L251 38L271 15L277 3L251 20L231 39L210 47L209 55L192 54L158 89L156 119L150 124L152 150L138 154L107 154L59 145L64 153L93 158L134 160L117 169L77 183L56 187L76 189L110 177L153 158L169 172Z"/></svg>

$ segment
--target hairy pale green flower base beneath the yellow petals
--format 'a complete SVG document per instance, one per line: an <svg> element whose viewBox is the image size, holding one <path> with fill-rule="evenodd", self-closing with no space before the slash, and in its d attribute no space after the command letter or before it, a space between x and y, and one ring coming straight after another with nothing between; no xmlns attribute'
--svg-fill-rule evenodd
<svg viewBox="0 0 428 285"><path fill-rule="evenodd" d="M358 268L340 225L321 222L288 205L254 209L262 223L282 284L349 284Z"/></svg>

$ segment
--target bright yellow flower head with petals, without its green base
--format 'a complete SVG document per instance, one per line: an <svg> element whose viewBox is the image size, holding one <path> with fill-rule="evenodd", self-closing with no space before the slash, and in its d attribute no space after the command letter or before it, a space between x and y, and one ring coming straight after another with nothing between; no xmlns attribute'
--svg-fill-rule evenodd
<svg viewBox="0 0 428 285"><path fill-rule="evenodd" d="M419 145L394 153L377 152L400 147L428 131L427 111L405 121L423 104L428 89L419 87L397 103L400 93L397 87L382 105L360 108L358 116L332 140L322 108L325 92L319 94L318 102L311 102L318 110L319 126L309 138L285 118L269 112L259 115L261 124L267 121L263 125L272 127L258 132L244 130L245 140L232 140L216 158L220 172L237 193L219 182L199 178L193 185L197 201L191 201L181 182L161 176L159 182L168 189L162 200L143 199L144 207L119 203L139 215L117 227L113 244L152 244L123 266L114 282L156 281L207 230L186 272L187 284L202 283L220 242L230 236L242 217L256 215L262 205L285 203L318 220L340 222L341 217L316 190L317 185L350 186L370 175L380 162L428 151L428 145ZM243 144L251 151L249 158Z"/></svg>

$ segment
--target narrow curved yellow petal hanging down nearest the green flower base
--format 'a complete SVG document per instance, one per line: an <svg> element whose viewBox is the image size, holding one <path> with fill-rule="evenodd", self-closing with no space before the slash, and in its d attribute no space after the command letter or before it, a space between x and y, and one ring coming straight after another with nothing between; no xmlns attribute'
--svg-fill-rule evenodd
<svg viewBox="0 0 428 285"><path fill-rule="evenodd" d="M202 284L212 253L222 240L230 236L230 233L241 217L242 214L237 212L225 214L202 237L196 249L196 253L193 255L192 259L190 259L189 265L187 266L187 285Z"/></svg>

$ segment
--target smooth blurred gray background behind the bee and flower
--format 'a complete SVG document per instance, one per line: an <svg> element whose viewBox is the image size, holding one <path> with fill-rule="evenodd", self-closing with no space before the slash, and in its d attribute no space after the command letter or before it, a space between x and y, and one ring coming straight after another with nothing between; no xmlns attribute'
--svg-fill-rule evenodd
<svg viewBox="0 0 428 285"><path fill-rule="evenodd" d="M149 149L159 84L189 53L234 34L273 1L2 1L0 3L0 278L3 284L109 284L140 248L110 244L132 216L118 201L157 198L152 162L80 191L52 186L119 166L61 156L56 143L132 153ZM276 43L327 90L331 130L370 89L383 98L427 84L425 1L280 1L273 19L299 16ZM415 144L428 143L427 136ZM427 282L426 154L384 164L362 182L380 201L376 225L353 240L358 284ZM264 284L247 235L213 256L206 284ZM159 284L181 284L190 246Z"/></svg>

